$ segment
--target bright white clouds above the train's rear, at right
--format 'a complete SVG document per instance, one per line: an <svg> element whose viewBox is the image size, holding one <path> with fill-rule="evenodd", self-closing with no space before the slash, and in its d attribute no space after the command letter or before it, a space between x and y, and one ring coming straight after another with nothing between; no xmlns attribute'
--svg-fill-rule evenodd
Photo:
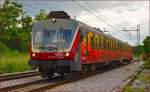
<svg viewBox="0 0 150 92"><path fill-rule="evenodd" d="M106 27L107 30L110 31L110 33L123 41L129 42L131 45L135 45L137 43L136 41L136 32L121 32L123 30L123 27L126 27L127 29L130 27L133 27L133 29L136 29L137 24L141 24L141 42L143 39L147 36L149 26L148 26L148 20L149 20L149 9L147 2L136 2L132 4L129 2L126 2L123 4L122 2L116 3L116 8L118 11L120 11L120 15L124 17L124 19L130 24L130 26L126 25L122 18L117 14L117 12L114 10L114 8L106 8L106 7L99 7L96 8L97 11L100 12L100 17L107 17L109 20L108 23L111 23L115 28L119 29L114 30L113 28L109 27L108 25L104 24L102 21L98 20L91 14L87 14L86 11L82 11L78 17L78 19L82 22L85 22L88 25L94 26L94 27ZM120 4L120 5L119 5ZM143 22L145 21L145 22Z"/></svg>

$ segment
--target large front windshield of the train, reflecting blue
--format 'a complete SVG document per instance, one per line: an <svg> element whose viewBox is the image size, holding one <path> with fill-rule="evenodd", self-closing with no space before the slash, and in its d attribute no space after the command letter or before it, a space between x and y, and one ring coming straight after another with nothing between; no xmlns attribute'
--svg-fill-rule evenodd
<svg viewBox="0 0 150 92"><path fill-rule="evenodd" d="M33 48L43 52L66 51L70 48L74 33L62 29L36 31Z"/></svg>

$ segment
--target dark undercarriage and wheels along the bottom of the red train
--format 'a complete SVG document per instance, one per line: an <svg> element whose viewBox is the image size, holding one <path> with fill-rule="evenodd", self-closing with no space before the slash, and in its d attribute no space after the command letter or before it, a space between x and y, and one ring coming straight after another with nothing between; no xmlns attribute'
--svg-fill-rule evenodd
<svg viewBox="0 0 150 92"><path fill-rule="evenodd" d="M116 66L121 64L128 64L129 60L123 61L112 61L109 63L101 62L94 64L82 64L81 70L72 70L72 64L67 60L60 61L29 61L29 65L31 65L32 69L39 69L41 72L41 77L52 77L55 73L64 76L67 73L78 72L80 74L92 72L94 70L102 69L104 67Z"/></svg>

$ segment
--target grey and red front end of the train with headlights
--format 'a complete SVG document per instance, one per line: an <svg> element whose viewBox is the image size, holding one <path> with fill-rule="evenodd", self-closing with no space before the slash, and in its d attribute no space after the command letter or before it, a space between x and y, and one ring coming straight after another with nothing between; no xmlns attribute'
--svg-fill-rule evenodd
<svg viewBox="0 0 150 92"><path fill-rule="evenodd" d="M38 68L42 77L68 72L77 33L77 22L71 19L52 18L34 24L29 65L32 69Z"/></svg>

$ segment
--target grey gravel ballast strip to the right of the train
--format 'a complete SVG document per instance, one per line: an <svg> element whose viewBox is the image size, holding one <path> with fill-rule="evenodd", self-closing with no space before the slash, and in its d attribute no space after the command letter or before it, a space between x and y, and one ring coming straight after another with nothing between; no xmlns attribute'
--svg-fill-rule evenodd
<svg viewBox="0 0 150 92"><path fill-rule="evenodd" d="M45 92L117 92L124 87L141 65L141 62L134 62Z"/></svg>

